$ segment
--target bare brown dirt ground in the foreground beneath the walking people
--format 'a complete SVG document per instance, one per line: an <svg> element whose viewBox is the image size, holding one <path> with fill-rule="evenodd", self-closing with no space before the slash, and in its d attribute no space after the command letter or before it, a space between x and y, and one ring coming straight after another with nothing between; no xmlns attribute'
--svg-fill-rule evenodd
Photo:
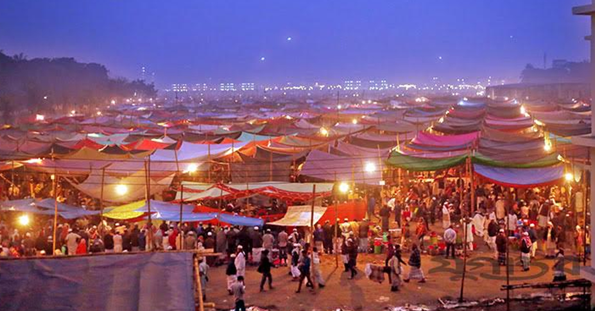
<svg viewBox="0 0 595 311"><path fill-rule="evenodd" d="M476 238L477 241L477 238ZM506 297L506 291L501 291L501 285L506 284L506 271L492 259L493 255L483 241L477 241L478 250L467 260L464 298L466 300L493 299ZM568 279L579 277L579 267L582 263L568 260L566 252L566 274ZM408 253L403 254L407 261ZM423 304L428 307L440 306L439 299L456 300L461 293L463 271L462 259L444 259L442 256L422 255L422 270L427 277L425 284L411 281L400 291L390 291L388 279L382 284L372 282L364 275L366 263L384 263L384 255L359 255L358 271L355 279L347 279L349 273L343 272L343 265L339 258L339 268L336 268L334 255L322 256L322 275L326 280L326 287L304 290L296 294L297 282L293 282L289 275L289 268L273 269L273 290L259 292L261 274L256 272L255 266L246 269L246 296L248 306L258 306L269 310L384 310L387 307L405 306L406 304ZM510 284L550 282L553 278L553 260L544 259L538 251L537 258L531 263L528 272L522 272L519 263L519 253L511 252ZM589 263L587 263L589 264ZM405 266L405 275L409 271ZM578 291L578 290L577 290ZM515 290L511 297L543 293L543 290ZM214 302L217 309L232 309L234 300L228 296L226 290L225 266L212 267L209 270L207 284L207 301ZM520 306L520 305L519 305ZM496 308L497 309L497 308ZM525 307L522 307L525 309ZM539 309L539 308L537 308ZM535 309L535 310L537 310ZM512 309L515 310L515 309Z"/></svg>

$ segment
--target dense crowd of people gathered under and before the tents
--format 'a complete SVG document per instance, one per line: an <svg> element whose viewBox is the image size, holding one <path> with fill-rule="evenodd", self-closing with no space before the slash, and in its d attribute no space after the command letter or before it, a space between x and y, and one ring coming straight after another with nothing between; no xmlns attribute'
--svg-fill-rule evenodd
<svg viewBox="0 0 595 311"><path fill-rule="evenodd" d="M57 224L55 241L53 218L40 216L20 228L3 215L0 256L212 249L221 256L201 262L203 293L208 266L226 265L227 290L239 310L245 309L246 266L258 266L261 291L265 285L274 288L272 268L287 266L287 273L297 282L296 293L300 293L303 284L324 288L321 260L335 253L352 279L358 275L358 255L380 250L386 256L384 273L389 275L392 291L410 279L425 282L423 254L453 259L472 256L480 243L500 265L508 265L510 253L518 252L524 271L530 269L541 249L544 257L556 259L554 275L560 281L565 279L565 251L574 252L578 259L590 255L588 222L585 225L584 216L576 212L574 200L561 186L523 190L480 184L471 189L461 178L439 178L371 191L366 218L337 219L336 227L326 221L317 224L313 232L267 225L153 224L91 217ZM281 205L275 202L275 206ZM228 206L233 210L233 204ZM409 253L407 262L403 253ZM406 274L403 266L408 266Z"/></svg>

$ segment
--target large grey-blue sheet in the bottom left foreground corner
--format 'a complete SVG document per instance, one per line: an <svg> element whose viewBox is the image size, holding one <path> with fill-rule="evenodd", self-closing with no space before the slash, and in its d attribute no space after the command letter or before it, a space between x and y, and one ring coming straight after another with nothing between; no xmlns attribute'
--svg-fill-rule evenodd
<svg viewBox="0 0 595 311"><path fill-rule="evenodd" d="M192 253L2 260L0 310L191 311Z"/></svg>

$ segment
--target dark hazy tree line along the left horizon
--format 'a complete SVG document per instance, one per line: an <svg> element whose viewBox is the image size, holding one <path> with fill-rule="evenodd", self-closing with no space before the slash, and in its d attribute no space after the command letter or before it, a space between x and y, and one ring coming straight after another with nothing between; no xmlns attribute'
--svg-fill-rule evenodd
<svg viewBox="0 0 595 311"><path fill-rule="evenodd" d="M154 98L153 84L110 78L104 65L74 58L34 58L0 51L0 118L22 112L91 111L134 95Z"/></svg>

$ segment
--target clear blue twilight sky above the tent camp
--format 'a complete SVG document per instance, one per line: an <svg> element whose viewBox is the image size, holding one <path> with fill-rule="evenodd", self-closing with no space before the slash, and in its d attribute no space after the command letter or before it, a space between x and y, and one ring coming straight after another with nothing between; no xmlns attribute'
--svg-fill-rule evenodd
<svg viewBox="0 0 595 311"><path fill-rule="evenodd" d="M145 65L159 87L517 80L544 53L548 63L588 58L588 18L571 8L589 1L0 0L0 49L73 56L128 78Z"/></svg>

